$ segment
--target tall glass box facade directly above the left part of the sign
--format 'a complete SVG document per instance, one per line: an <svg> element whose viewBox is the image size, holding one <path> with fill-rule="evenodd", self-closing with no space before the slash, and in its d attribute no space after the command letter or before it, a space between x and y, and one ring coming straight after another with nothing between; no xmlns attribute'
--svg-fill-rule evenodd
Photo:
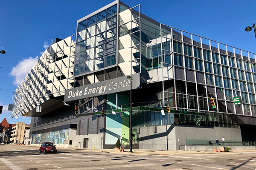
<svg viewBox="0 0 256 170"><path fill-rule="evenodd" d="M117 4L77 25L74 76L116 64Z"/></svg>

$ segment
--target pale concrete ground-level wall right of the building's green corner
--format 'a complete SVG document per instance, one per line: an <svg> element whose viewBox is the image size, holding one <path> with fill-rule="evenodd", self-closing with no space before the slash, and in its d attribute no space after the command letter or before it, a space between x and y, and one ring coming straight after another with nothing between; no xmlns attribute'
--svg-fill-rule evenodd
<svg viewBox="0 0 256 170"><path fill-rule="evenodd" d="M222 142L222 136L225 142L242 141L240 129L228 127L150 126L140 127L138 136L139 148L154 150L183 150L188 143L207 144L208 140L214 143L216 139ZM206 150L206 146L202 149Z"/></svg>

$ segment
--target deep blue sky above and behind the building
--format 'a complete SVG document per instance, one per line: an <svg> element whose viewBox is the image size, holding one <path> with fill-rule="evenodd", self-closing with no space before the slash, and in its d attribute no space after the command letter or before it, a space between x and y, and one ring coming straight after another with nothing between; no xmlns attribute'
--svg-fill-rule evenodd
<svg viewBox="0 0 256 170"><path fill-rule="evenodd" d="M8 105L12 92L55 38L76 34L77 20L113 0L5 0L0 10L0 105L9 123L26 122L31 117L11 119ZM254 31L255 0L122 0L130 7L141 5L141 13L183 31L256 53Z"/></svg>

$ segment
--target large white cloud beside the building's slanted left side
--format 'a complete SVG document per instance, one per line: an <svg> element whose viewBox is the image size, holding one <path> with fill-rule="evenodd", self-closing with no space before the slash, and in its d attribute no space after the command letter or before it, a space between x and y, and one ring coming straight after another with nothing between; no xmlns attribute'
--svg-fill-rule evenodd
<svg viewBox="0 0 256 170"><path fill-rule="evenodd" d="M14 85L19 85L20 82L26 77L35 63L38 61L38 56L35 58L29 57L27 59L23 59L23 61L19 62L19 64L15 65L12 68L11 76L15 77L15 81L13 82Z"/></svg>

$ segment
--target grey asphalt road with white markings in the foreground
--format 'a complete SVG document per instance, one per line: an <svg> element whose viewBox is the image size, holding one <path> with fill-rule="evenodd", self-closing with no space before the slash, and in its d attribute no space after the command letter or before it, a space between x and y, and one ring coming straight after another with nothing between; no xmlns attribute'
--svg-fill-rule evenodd
<svg viewBox="0 0 256 170"><path fill-rule="evenodd" d="M244 153L141 155L0 145L0 170L256 170L256 151Z"/></svg>

